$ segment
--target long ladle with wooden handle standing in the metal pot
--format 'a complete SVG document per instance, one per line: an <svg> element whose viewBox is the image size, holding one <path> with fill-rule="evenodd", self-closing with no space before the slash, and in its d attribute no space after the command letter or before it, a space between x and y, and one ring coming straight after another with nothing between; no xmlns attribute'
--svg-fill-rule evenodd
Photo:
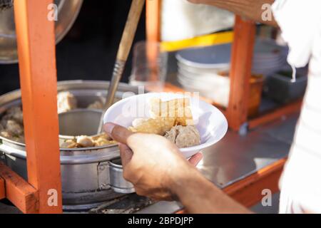
<svg viewBox="0 0 321 228"><path fill-rule="evenodd" d="M131 10L129 11L126 26L123 31L123 37L121 38L121 43L118 48L116 63L113 69L113 78L111 79L111 84L108 89L108 95L104 106L105 112L113 104L119 81L121 81L121 76L123 75L123 70L125 68L129 52L131 51L131 46L133 45L133 39L136 34L138 22L141 18L141 12L143 11L145 1L146 0L133 0L131 3ZM100 134L102 130L103 115L101 115L101 122L99 123L98 134Z"/></svg>

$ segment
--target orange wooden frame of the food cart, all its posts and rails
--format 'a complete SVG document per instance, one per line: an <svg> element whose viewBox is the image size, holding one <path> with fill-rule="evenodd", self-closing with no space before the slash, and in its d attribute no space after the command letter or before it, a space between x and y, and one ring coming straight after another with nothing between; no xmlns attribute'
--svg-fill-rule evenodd
<svg viewBox="0 0 321 228"><path fill-rule="evenodd" d="M48 18L48 6L52 3L52 0L14 1L28 182L0 163L0 199L9 199L24 213L62 212L55 31L54 21ZM146 14L148 41L161 41L161 0L147 0ZM240 16L236 16L235 22L230 104L225 112L230 128L240 130L244 125L255 128L299 110L300 102L297 102L260 118L248 120L247 104L255 24L241 19ZM285 160L281 160L225 191L250 206L260 200L258 194L254 194L256 198L253 199L253 192L262 183L277 191L276 180L284 162ZM254 183L258 185L253 185Z"/></svg>

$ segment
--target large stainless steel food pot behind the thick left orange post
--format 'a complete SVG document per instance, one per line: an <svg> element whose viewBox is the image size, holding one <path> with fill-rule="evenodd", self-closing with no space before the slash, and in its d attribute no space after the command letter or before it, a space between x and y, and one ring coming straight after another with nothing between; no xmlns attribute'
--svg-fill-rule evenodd
<svg viewBox="0 0 321 228"><path fill-rule="evenodd" d="M88 103L106 97L108 85L108 82L103 81L62 81L58 83L58 91L70 91L76 96L78 105L86 107ZM125 92L131 92L134 95L138 93L138 88L121 83L116 98L122 98ZM20 90L1 95L0 116L7 108L20 104ZM119 151L116 145L86 149L61 149L64 208L88 209L108 199L118 197L119 194L111 190L111 187L121 190L118 192L132 192L133 187L123 180L119 182L120 186L115 186L110 182L110 176L112 179L115 176L121 177L119 175L121 166L116 164L118 167L114 169L115 164L111 162L118 157ZM21 177L27 179L24 144L0 137L0 160Z"/></svg>

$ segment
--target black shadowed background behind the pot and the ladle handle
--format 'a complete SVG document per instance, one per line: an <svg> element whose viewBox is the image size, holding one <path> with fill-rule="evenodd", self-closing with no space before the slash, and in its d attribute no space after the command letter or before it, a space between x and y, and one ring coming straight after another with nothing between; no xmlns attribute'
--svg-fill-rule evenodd
<svg viewBox="0 0 321 228"><path fill-rule="evenodd" d="M111 79L118 43L131 1L99 1L99 4L97 2L83 1L80 14L71 31L56 46L58 81ZM146 17L143 14L136 41L145 39L145 23ZM131 72L131 56L128 58L123 76L124 82L128 81ZM0 64L0 76L1 94L19 88L18 64Z"/></svg>

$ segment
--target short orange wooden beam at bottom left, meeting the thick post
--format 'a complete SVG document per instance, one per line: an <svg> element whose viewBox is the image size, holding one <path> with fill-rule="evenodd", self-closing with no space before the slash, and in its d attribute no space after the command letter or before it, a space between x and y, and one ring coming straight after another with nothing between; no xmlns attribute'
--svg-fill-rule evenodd
<svg viewBox="0 0 321 228"><path fill-rule="evenodd" d="M0 162L0 177L4 180L6 198L18 207L21 212L27 214L39 212L38 192L34 187L2 162Z"/></svg>

